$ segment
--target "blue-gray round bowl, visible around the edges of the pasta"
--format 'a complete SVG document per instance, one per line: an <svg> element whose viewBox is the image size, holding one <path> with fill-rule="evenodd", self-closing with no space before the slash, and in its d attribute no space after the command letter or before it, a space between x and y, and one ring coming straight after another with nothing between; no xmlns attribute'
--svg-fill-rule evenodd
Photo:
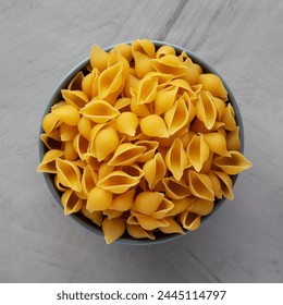
<svg viewBox="0 0 283 305"><path fill-rule="evenodd" d="M204 60L201 60L200 58L198 58L197 56L195 56L194 53L192 53L190 51L188 51L182 47L174 46L172 44L168 44L164 41L158 41L158 40L152 40L152 42L155 44L156 49L165 45L165 46L172 46L176 50L176 53L181 53L182 51L185 51L195 63L198 63L202 68L205 73L209 73L209 72L214 73L222 80L222 82L227 90L229 101L231 102L231 105L233 106L233 108L235 110L236 122L237 122L237 125L239 126L241 152L243 154L243 151L244 151L244 126L243 126L241 112L239 112L238 105L236 102L236 99L234 98L233 93L229 88L225 81L221 77L221 75L219 75L219 73L212 66L210 66L207 62L205 62ZM126 41L123 44L132 44L132 41ZM114 46L104 48L104 51L110 51L113 47ZM54 89L54 91L47 105L44 117L50 111L51 107L56 102L58 102L62 99L61 89L64 89L67 87L69 83L74 78L74 76L76 75L77 72L79 72L79 71L82 71L83 73L86 72L87 65L89 65L89 58L82 61L79 64L77 64L72 71L70 71L65 75L65 77L60 82L60 84ZM40 127L40 134L41 133L44 133L42 127ZM47 151L47 147L45 146L45 144L41 141L39 141L40 161L46 151ZM44 173L44 175L45 175L47 185L48 185L50 192L52 193L54 199L58 202L59 206L62 207L61 200L60 200L62 193L60 191L58 191L57 187L54 186L53 175L49 174L49 173ZM237 175L232 176L233 185L234 185L236 179L237 179ZM221 207L221 205L224 203L224 200L225 200L225 198L217 199L214 203L214 209L212 210L212 212L210 215L202 217L201 222L204 220L207 220L208 218L211 218L216 213L216 211ZM98 225L96 225L95 223L93 223L90 220L88 220L86 217L84 217L81 212L72 213L70 217L72 217L74 220L76 220L83 227L87 228L89 231L100 235L101 237L103 236L101 229ZM186 235L187 234L189 234L189 231L186 232ZM160 232L160 233L156 234L156 240L151 241L151 240L135 240L135 239L132 239L131 236L125 235L125 236L120 237L118 241L115 241L115 243L130 244L130 245L152 245L152 244L160 244L160 243L164 243L168 241L172 241L172 240L179 239L181 236L185 236L185 235L163 234Z"/></svg>

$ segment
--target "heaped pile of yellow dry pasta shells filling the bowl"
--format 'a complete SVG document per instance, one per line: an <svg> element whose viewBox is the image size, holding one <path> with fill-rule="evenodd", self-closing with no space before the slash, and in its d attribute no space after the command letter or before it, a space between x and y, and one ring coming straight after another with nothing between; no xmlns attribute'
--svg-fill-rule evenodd
<svg viewBox="0 0 283 305"><path fill-rule="evenodd" d="M108 244L196 230L251 166L220 77L171 46L95 45L61 94L37 170L53 174L64 213L82 212Z"/></svg>

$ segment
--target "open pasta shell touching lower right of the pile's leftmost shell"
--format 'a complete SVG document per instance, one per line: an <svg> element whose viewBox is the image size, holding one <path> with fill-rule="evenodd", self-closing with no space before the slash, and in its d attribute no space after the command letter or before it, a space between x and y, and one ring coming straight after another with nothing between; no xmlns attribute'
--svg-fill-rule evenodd
<svg viewBox="0 0 283 305"><path fill-rule="evenodd" d="M56 166L58 170L58 181L73 191L81 192L81 171L73 161L56 159Z"/></svg>

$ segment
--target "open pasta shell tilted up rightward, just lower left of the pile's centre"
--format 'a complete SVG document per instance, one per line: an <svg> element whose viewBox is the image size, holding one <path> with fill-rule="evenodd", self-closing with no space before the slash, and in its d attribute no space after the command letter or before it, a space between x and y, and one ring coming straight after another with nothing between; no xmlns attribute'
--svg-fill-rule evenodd
<svg viewBox="0 0 283 305"><path fill-rule="evenodd" d="M108 162L109 166L130 166L138 159L146 150L145 146L132 143L121 144L114 151L113 157Z"/></svg>

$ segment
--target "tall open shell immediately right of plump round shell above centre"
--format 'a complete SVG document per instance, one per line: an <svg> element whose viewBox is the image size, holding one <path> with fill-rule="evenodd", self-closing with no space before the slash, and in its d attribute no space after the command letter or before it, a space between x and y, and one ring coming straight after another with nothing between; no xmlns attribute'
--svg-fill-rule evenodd
<svg viewBox="0 0 283 305"><path fill-rule="evenodd" d="M174 106L164 113L164 121L169 134L172 135L184 127L188 122L188 109L183 98L180 98Z"/></svg>

